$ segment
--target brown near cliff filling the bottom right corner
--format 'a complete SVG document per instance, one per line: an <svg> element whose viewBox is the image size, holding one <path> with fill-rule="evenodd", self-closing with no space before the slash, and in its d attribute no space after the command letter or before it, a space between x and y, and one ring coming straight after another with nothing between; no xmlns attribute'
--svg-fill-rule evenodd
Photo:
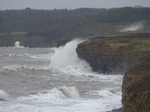
<svg viewBox="0 0 150 112"><path fill-rule="evenodd" d="M122 103L124 112L150 112L150 55L125 74Z"/></svg>

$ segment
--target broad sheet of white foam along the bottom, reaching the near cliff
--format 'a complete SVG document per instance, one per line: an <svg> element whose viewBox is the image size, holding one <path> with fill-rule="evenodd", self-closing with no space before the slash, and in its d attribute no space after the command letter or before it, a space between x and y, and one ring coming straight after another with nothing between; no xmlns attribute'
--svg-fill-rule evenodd
<svg viewBox="0 0 150 112"><path fill-rule="evenodd" d="M76 92L75 87L63 86L48 91L38 92L34 95L20 97L18 100L36 104L34 104L34 106L29 106L31 109L29 112L35 112L34 108L44 112L47 112L48 110L51 112L105 112L121 107L121 94L115 95L109 90L90 91L88 93L91 95L99 95L100 97L98 99L78 98L78 95L74 96L74 94L72 98L72 95L68 95L68 90L69 92ZM66 91L67 94L64 93L64 91ZM41 104L42 106L38 106ZM27 105L20 106L22 112L25 112L25 107L28 107Z"/></svg>

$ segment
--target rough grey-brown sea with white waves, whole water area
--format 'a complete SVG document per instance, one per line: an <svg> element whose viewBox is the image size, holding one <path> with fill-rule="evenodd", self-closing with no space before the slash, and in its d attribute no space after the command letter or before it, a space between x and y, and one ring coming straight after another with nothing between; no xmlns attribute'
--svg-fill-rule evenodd
<svg viewBox="0 0 150 112"><path fill-rule="evenodd" d="M0 48L0 112L106 112L120 108L122 75L93 72L81 40L59 48Z"/></svg>

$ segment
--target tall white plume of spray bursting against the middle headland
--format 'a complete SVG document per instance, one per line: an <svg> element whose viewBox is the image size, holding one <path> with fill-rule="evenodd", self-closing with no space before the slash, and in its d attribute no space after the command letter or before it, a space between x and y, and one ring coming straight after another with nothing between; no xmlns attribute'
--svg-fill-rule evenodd
<svg viewBox="0 0 150 112"><path fill-rule="evenodd" d="M54 55L51 57L50 67L66 68L68 66L74 66L79 68L90 68L89 63L78 58L76 53L76 47L83 40L72 40L65 46L61 46L55 50Z"/></svg>

